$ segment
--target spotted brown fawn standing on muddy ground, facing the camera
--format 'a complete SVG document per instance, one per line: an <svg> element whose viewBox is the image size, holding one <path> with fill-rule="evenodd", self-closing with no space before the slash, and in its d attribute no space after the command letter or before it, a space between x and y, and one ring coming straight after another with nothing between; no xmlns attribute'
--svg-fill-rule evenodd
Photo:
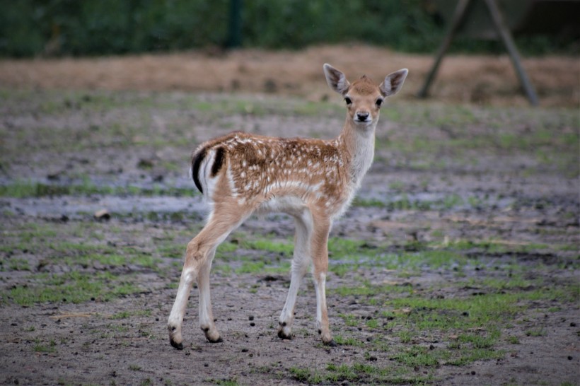
<svg viewBox="0 0 580 386"><path fill-rule="evenodd" d="M210 211L204 228L188 244L175 303L168 318L171 346L183 349L182 322L194 281L199 291L199 327L207 341L222 341L214 324L209 273L216 247L252 214L282 212L294 218L294 254L278 337L291 339L298 288L312 266L316 327L334 346L326 303L328 238L332 221L344 214L369 170L375 130L385 98L402 88L408 70L385 76L380 85L362 76L350 83L324 64L328 86L342 95L347 117L336 139L274 138L234 131L199 145L191 174Z"/></svg>

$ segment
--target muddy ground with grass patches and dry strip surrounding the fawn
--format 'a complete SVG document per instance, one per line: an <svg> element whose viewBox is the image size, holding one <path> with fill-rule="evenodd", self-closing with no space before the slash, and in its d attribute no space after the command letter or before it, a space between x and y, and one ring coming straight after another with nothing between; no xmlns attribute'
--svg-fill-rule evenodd
<svg viewBox="0 0 580 386"><path fill-rule="evenodd" d="M411 74L332 228L337 346L315 333L310 278L294 339L277 337L294 226L272 215L216 255L224 341L197 327L194 289L173 349L166 321L206 214L190 152L233 129L336 136L323 62ZM578 60L526 59L538 108L506 57L450 57L436 100L417 101L430 64L364 46L0 61L0 383L579 385Z"/></svg>

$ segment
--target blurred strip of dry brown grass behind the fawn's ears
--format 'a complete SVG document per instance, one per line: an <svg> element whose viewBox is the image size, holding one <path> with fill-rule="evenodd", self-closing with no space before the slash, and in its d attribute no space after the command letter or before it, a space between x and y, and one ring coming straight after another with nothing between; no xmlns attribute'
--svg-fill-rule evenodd
<svg viewBox="0 0 580 386"><path fill-rule="evenodd" d="M385 71L410 69L402 98L414 98L434 58L400 54L367 45L316 46L302 51L241 49L83 59L0 61L3 88L99 88L108 90L190 90L301 95L327 98L320 82L329 62L347 74L365 71L376 81ZM523 60L545 107L578 107L578 57ZM359 74L362 75L362 74ZM450 55L443 60L431 94L446 103L527 105L507 55Z"/></svg>

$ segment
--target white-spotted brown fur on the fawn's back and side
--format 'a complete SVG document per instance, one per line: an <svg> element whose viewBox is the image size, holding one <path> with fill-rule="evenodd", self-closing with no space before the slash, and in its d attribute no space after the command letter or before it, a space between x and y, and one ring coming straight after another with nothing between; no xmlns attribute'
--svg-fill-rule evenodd
<svg viewBox="0 0 580 386"><path fill-rule="evenodd" d="M212 176L216 174L215 170L228 169L233 176L233 189L229 190L243 197L252 197L253 206L287 194L288 185L298 182L303 186L294 187L294 193L308 204L325 206L328 200L332 202L325 211L327 214L332 214L348 199L347 189L342 187L347 185L349 178L344 165L349 164L350 156L342 136L334 141L324 141L279 139L236 132L202 144L192 159L198 160L200 154L207 156L212 150L216 153L211 165ZM193 170L194 179L199 172L198 162ZM220 178L227 180L228 177L221 173ZM317 192L309 191L309 187L317 185L320 185ZM223 193L216 190L209 199L219 202L227 197Z"/></svg>

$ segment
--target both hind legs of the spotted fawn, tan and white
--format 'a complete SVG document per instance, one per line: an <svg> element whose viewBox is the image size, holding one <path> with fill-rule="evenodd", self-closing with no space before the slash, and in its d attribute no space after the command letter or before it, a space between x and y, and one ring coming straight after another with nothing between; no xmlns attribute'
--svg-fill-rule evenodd
<svg viewBox="0 0 580 386"><path fill-rule="evenodd" d="M231 212L220 216L218 211L214 211L207 225L187 244L178 293L167 324L169 341L175 349L183 349L181 333L183 316L192 284L196 279L199 289L199 327L208 341L212 343L221 341L211 312L209 271L216 247L240 225L245 217L236 216Z"/></svg>

